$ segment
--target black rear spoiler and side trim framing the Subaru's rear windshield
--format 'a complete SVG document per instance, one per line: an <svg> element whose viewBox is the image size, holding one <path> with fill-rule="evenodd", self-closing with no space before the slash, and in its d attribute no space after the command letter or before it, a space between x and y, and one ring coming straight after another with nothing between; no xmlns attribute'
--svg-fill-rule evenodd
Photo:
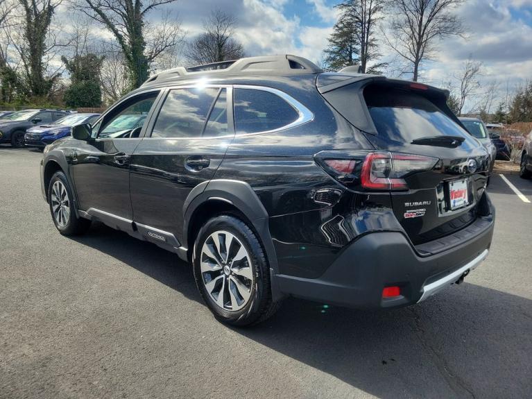
<svg viewBox="0 0 532 399"><path fill-rule="evenodd" d="M447 105L449 90L438 89L438 87L409 80L388 79L380 75L323 73L316 78L318 92L336 111L340 112L359 130L377 135L377 129L373 124L363 96L363 91L368 85L401 87L416 92L429 99L456 124L463 127Z"/></svg>

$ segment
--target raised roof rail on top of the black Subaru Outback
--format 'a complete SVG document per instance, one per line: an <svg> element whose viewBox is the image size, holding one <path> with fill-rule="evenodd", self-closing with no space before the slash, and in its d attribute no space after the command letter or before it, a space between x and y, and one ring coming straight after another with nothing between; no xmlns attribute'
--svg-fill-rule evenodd
<svg viewBox="0 0 532 399"><path fill-rule="evenodd" d="M289 54L284 56L247 57L239 60L197 65L195 67L168 69L148 78L143 86L154 82L158 83L162 80L199 76L200 74L205 74L205 72L216 76L239 74L301 75L320 74L323 69L306 58Z"/></svg>

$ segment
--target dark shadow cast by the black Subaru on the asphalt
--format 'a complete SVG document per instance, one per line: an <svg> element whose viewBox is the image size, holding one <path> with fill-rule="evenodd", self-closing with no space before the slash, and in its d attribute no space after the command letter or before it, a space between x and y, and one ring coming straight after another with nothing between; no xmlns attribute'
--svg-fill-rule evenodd
<svg viewBox="0 0 532 399"><path fill-rule="evenodd" d="M201 303L191 267L177 255L101 223L74 239ZM376 312L287 298L268 321L232 330L379 398L532 392L532 300L467 282L412 307ZM289 364L286 373L297 377L300 368Z"/></svg>

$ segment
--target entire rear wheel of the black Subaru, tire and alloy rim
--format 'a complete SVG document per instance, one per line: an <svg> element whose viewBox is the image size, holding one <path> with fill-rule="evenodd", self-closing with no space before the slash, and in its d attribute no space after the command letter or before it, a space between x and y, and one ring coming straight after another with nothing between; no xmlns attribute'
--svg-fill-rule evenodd
<svg viewBox="0 0 532 399"><path fill-rule="evenodd" d="M200 295L222 323L257 324L280 306L271 298L269 267L261 244L237 217L221 215L205 223L194 244L193 265Z"/></svg>

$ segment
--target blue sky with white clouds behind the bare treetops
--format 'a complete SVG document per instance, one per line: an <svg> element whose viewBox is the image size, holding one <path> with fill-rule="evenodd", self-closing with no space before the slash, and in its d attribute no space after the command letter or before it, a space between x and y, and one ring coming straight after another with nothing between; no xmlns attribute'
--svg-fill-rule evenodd
<svg viewBox="0 0 532 399"><path fill-rule="evenodd" d="M171 13L180 19L190 38L202 31L209 12L219 8L237 17L237 39L249 56L291 53L316 62L327 46L337 16L334 5L339 2L178 0L155 10L150 18L157 23L162 15ZM532 0L465 0L455 12L463 19L467 37L438 42L434 58L422 65L420 80L440 86L456 84L454 76L470 56L482 62L485 85L498 83L499 96L506 87L532 79ZM393 61L393 51L381 44L382 61ZM397 69L390 68L386 74L394 76Z"/></svg>

